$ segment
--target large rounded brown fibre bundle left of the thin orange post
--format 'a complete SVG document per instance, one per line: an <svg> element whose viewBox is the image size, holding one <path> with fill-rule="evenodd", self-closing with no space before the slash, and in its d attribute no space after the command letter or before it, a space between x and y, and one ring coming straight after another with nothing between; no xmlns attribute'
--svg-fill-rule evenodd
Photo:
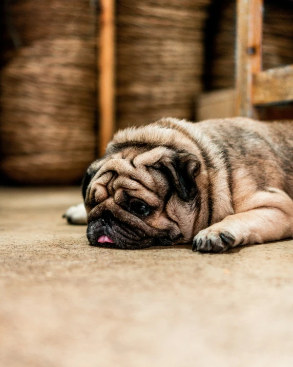
<svg viewBox="0 0 293 367"><path fill-rule="evenodd" d="M2 70L2 170L27 184L73 183L95 155L95 28L88 0L17 1L22 47Z"/></svg>

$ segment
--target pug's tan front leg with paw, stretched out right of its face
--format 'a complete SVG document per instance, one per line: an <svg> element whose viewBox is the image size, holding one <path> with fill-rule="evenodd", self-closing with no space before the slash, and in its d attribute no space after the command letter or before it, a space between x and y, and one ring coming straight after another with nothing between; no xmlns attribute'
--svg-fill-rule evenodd
<svg viewBox="0 0 293 367"><path fill-rule="evenodd" d="M237 245L292 237L292 217L279 208L260 207L231 215L201 230L193 251L219 253Z"/></svg>

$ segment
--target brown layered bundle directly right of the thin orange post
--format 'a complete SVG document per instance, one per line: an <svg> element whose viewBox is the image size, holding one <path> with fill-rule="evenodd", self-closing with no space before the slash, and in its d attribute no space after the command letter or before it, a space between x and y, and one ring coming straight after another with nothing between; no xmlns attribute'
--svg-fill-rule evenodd
<svg viewBox="0 0 293 367"><path fill-rule="evenodd" d="M210 0L117 2L117 127L192 119Z"/></svg>

